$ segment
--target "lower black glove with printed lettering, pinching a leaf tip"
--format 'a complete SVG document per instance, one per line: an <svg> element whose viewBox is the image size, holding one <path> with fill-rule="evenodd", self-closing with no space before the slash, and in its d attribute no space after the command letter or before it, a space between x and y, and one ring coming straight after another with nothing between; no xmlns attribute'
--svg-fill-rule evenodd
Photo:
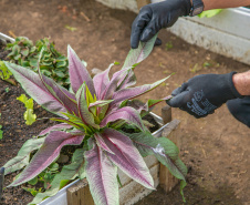
<svg viewBox="0 0 250 205"><path fill-rule="evenodd" d="M194 76L173 91L174 98L167 101L167 104L179 107L197 119L212 114L228 100L242 98L232 82L235 73Z"/></svg>

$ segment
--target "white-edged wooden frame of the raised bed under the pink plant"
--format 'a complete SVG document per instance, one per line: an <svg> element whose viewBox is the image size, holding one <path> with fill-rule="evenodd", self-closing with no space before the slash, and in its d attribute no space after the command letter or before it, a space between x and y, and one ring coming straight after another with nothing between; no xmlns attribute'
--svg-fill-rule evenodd
<svg viewBox="0 0 250 205"><path fill-rule="evenodd" d="M166 114L166 111L163 111ZM167 106L167 113L170 110ZM164 120L158 115L150 113L155 121L160 125L160 129L155 131L153 135L155 137L166 136L170 137L174 142L178 141L178 146L180 146L180 139L178 139L179 132L179 121L174 120L167 124L164 123ZM170 113L169 113L170 114ZM166 114L165 116L168 116ZM167 119L166 119L167 120ZM170 119L168 119L170 120ZM168 171L163 166L160 170L160 164L155 156L147 156L144 158L150 174L154 178L154 186L157 187L160 184L162 178L162 186L169 192L178 181L175 181L174 177L168 173ZM160 176L162 172L162 176ZM121 170L118 170L118 175L121 178L122 187L119 187L119 204L121 205L133 205L150 194L153 191L147 189L144 186L139 185L138 183L134 182L127 175L125 175ZM167 178L167 181L166 181ZM82 203L81 203L82 202ZM62 188L55 196L50 197L39 205L94 205L92 196L88 191L87 182L76 180Z"/></svg>

